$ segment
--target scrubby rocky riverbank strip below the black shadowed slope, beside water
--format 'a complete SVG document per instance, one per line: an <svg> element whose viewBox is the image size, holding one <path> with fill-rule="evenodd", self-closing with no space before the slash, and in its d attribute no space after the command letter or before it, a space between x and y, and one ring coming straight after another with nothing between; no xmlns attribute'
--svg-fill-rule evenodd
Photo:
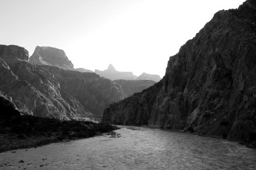
<svg viewBox="0 0 256 170"><path fill-rule="evenodd" d="M0 134L0 153L19 148L36 148L53 142L64 142L81 138L89 138L98 134L117 130L117 126L94 122L61 122L56 130L45 132L20 132ZM71 125L73 124L73 126Z"/></svg>

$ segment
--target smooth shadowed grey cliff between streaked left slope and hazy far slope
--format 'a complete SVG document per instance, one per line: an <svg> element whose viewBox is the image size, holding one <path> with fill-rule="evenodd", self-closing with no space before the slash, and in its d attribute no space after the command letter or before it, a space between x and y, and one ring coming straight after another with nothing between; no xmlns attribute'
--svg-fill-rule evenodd
<svg viewBox="0 0 256 170"><path fill-rule="evenodd" d="M50 66L40 66L40 69L54 75L60 84L62 95L72 95L94 116L102 116L103 110L110 103L124 99L121 85L95 73L65 71Z"/></svg>

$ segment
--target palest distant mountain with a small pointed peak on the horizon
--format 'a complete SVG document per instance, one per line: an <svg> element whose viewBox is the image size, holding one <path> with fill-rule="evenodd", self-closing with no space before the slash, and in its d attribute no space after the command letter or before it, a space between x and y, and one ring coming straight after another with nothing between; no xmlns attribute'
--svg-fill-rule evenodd
<svg viewBox="0 0 256 170"><path fill-rule="evenodd" d="M131 72L121 72L117 71L113 65L108 65L108 69L104 71L95 70L97 75L100 77L105 77L110 80L124 79L124 80L135 80L137 76L133 75Z"/></svg>

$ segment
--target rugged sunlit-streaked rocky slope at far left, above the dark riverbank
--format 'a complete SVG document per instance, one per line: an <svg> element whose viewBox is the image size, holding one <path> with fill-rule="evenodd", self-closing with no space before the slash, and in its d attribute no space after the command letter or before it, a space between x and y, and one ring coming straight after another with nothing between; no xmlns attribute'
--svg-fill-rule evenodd
<svg viewBox="0 0 256 170"><path fill-rule="evenodd" d="M18 109L27 109L34 116L58 119L92 115L77 99L63 99L54 75L31 64L23 52L16 51L0 54L0 91L11 97Z"/></svg>

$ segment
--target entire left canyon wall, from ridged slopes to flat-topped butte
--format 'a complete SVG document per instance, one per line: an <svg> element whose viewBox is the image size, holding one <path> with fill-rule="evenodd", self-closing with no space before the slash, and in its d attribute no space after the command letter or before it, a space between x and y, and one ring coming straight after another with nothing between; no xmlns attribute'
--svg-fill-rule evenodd
<svg viewBox="0 0 256 170"><path fill-rule="evenodd" d="M154 83L116 83L96 73L75 71L65 52L57 48L37 46L29 58L25 48L0 45L0 93L22 114L59 120L102 117L110 103Z"/></svg>

